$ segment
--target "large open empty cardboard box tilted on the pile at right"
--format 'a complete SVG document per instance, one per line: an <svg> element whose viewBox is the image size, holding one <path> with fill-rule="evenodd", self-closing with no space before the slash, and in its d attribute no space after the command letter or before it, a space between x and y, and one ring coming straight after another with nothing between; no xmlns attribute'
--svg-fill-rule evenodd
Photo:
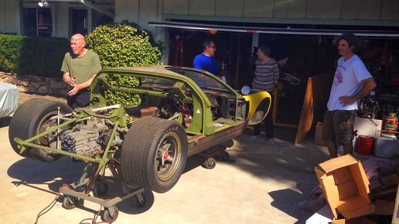
<svg viewBox="0 0 399 224"><path fill-rule="evenodd" d="M338 213L346 219L374 213L369 181L360 161L352 155L330 159L314 170L335 218Z"/></svg>

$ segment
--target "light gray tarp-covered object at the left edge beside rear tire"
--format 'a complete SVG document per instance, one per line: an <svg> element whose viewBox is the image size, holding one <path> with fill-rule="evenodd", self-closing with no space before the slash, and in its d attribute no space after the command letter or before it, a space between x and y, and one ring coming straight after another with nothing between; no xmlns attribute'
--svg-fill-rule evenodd
<svg viewBox="0 0 399 224"><path fill-rule="evenodd" d="M18 92L16 86L0 82L0 118L10 115L17 108Z"/></svg>

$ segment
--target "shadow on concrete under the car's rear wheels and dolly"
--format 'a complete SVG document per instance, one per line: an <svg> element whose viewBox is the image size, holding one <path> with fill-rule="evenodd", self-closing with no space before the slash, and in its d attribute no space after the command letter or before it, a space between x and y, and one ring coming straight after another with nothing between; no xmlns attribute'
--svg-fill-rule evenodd
<svg viewBox="0 0 399 224"><path fill-rule="evenodd" d="M57 193L59 192L59 188L63 184L70 184L79 180L79 177L81 176L82 171L87 164L88 163L84 163L83 161L75 162L66 157L62 157L61 159L52 163L43 163L33 159L25 158L12 164L8 168L7 174L14 179L20 180L12 181L12 183L16 187L18 187L19 185L25 185L34 189L38 189L40 191L45 191L47 193L57 195ZM38 187L37 185L42 186ZM107 191L107 194L102 198L111 199L116 196L123 196L122 187L119 183L107 183L107 185L109 186L109 190ZM93 193L89 193L89 195L93 195ZM154 195L152 191L144 190L143 196L145 199L145 204L142 208L134 208L134 196L132 198L128 198L126 200L123 200L122 202L119 202L117 204L117 207L121 212L127 214L143 213L150 209L152 207L152 204L154 204ZM59 196L57 198L57 202L62 203L62 201L63 196ZM97 214L96 210L85 207L82 200L79 200L79 204L77 205L77 207L88 212L92 212L93 214Z"/></svg>

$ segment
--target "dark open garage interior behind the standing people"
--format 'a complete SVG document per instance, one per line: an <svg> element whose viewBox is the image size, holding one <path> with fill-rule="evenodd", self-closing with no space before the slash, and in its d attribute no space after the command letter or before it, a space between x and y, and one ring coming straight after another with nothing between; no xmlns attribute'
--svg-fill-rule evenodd
<svg viewBox="0 0 399 224"><path fill-rule="evenodd" d="M270 24L267 24L268 26ZM259 26L259 24L257 25ZM276 25L281 26L281 24ZM269 26L270 27L270 26ZM292 26L294 27L294 26ZM337 27L342 30L326 31L323 27L314 26L316 33L259 33L257 45L268 45L271 47L271 57L280 63L280 82L282 87L276 89L277 112L275 123L282 126L297 127L300 121L304 96L309 77L317 77L313 80L313 110L314 117L312 129L308 137L312 140L314 126L318 121L323 120L326 110L326 103L330 94L330 88L336 62L340 57L336 38L344 29L352 27ZM169 33L169 59L170 65L182 65L192 67L194 57L202 52L202 41L204 39L215 40L217 51L215 57L219 61L221 73L227 77L227 83L235 88L241 88L250 84L253 79L254 67L251 64L256 60L253 47L253 32L255 30L216 29L191 29L174 27L168 28ZM308 28L308 27L307 27ZM323 29L322 29L323 28ZM215 29L215 30L214 30ZM280 29L280 28L278 28ZM352 28L354 29L354 28ZM363 29L363 28L357 28ZM368 29L377 30L378 28ZM397 100L395 84L398 67L399 35L397 31L389 31L384 28L382 31L354 31L359 37L358 55L364 61L367 69L375 77L378 87L372 97L392 108L390 103L393 98ZM298 29L290 28L290 31ZM314 31L314 29L313 29ZM313 32L312 31L312 32ZM384 34L385 33L385 34ZM389 53L387 53L389 51ZM385 52L385 53L384 53ZM384 56L385 54L385 56ZM388 54L388 56L387 56ZM382 62L381 58L389 57L388 62ZM393 81L392 81L393 80ZM387 82L391 82L387 84ZM381 90L383 90L381 92ZM389 98L390 96L393 96ZM385 98L389 98L385 102ZM365 103L364 105L366 105ZM368 110L369 106L367 106ZM381 112L389 109L380 108ZM363 115L362 115L363 116ZM282 127L282 132L291 133L286 140L293 141L297 132L296 128ZM276 127L280 129L279 127ZM278 131L278 130L277 130Z"/></svg>

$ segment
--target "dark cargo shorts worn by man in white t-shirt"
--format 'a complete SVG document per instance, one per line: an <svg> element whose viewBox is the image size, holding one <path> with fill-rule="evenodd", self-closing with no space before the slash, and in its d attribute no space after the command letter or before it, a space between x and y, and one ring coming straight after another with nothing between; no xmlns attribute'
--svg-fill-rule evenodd
<svg viewBox="0 0 399 224"><path fill-rule="evenodd" d="M324 114L322 140L337 145L352 145L356 110L327 110Z"/></svg>

